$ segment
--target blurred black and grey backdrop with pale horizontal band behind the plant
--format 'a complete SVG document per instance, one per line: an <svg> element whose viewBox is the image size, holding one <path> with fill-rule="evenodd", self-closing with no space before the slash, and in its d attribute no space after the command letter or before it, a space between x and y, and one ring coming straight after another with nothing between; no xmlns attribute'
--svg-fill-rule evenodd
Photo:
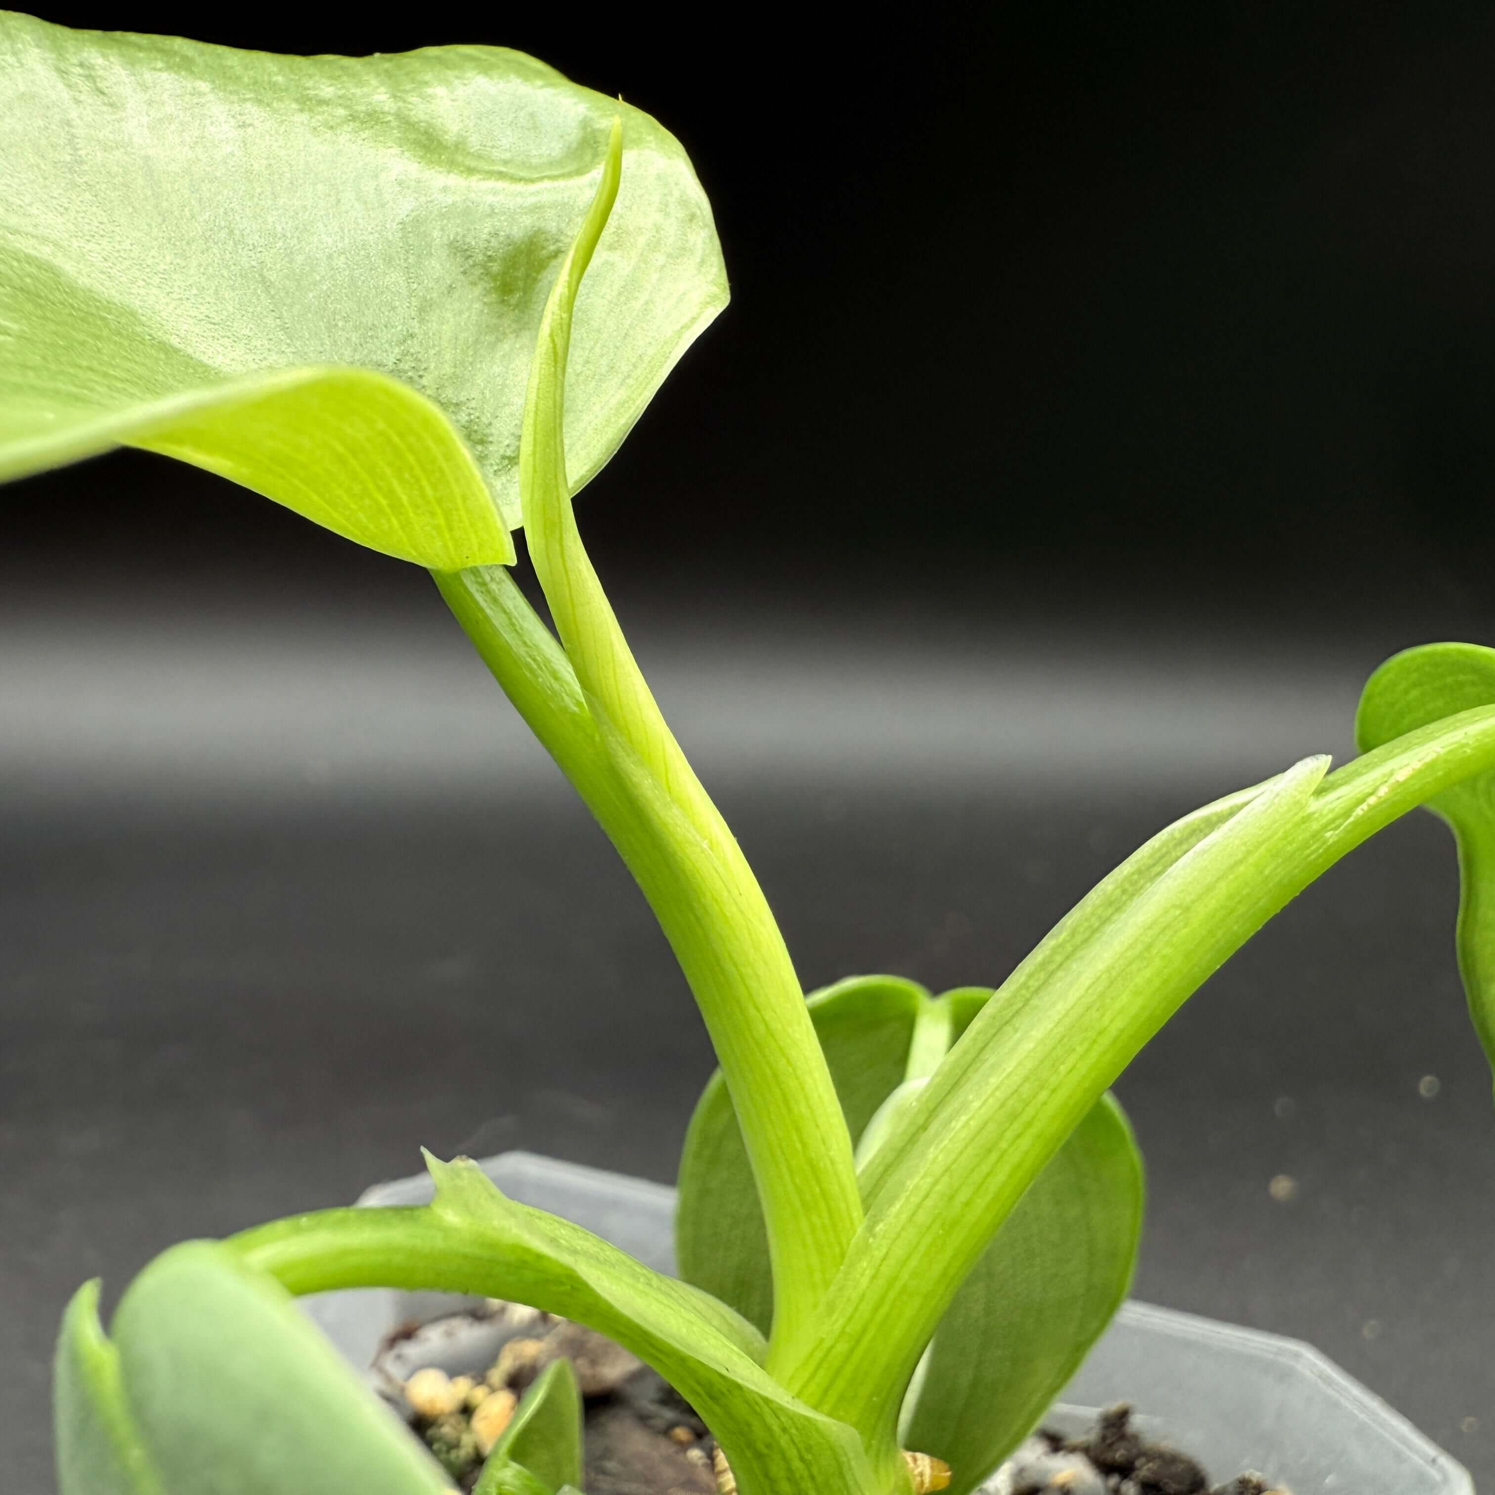
<svg viewBox="0 0 1495 1495"><path fill-rule="evenodd" d="M1387 653L1495 643L1491 6L525 9L42 13L504 43L685 141L734 303L579 511L807 985L996 984L1168 819L1343 759ZM710 1055L423 573L141 454L4 541L0 1426L45 1491L82 1278L420 1144L670 1180ZM1138 1295L1311 1340L1485 1482L1455 904L1393 827L1120 1093Z"/></svg>

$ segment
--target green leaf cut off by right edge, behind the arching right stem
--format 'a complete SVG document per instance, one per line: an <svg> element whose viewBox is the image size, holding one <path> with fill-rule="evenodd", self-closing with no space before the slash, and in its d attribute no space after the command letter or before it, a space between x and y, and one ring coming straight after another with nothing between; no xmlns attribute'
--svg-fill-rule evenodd
<svg viewBox="0 0 1495 1495"><path fill-rule="evenodd" d="M1426 644L1386 661L1366 682L1354 718L1362 752L1443 718L1495 706L1495 649ZM1470 1015L1495 1067L1495 771L1428 801L1459 846L1459 973Z"/></svg>

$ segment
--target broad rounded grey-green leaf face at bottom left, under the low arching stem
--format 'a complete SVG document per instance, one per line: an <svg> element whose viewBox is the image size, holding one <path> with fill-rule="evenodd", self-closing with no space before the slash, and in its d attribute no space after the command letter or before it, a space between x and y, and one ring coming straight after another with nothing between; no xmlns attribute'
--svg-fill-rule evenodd
<svg viewBox="0 0 1495 1495"><path fill-rule="evenodd" d="M114 1319L130 1411L167 1495L441 1495L451 1485L290 1295L190 1241Z"/></svg>

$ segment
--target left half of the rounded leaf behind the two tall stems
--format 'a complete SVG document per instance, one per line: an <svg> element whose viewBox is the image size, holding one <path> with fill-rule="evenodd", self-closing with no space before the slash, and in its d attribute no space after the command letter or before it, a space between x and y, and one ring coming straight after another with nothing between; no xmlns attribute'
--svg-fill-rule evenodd
<svg viewBox="0 0 1495 1495"><path fill-rule="evenodd" d="M897 976L852 976L809 997L810 1020L854 1144L903 1079L925 1003L922 987ZM674 1242L680 1275L767 1334L773 1320L768 1239L721 1070L691 1117L679 1190Z"/></svg>

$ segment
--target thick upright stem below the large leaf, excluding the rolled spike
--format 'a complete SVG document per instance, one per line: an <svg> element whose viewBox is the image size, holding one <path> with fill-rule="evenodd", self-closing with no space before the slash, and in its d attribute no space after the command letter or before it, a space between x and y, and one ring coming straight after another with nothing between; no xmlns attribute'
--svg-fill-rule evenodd
<svg viewBox="0 0 1495 1495"><path fill-rule="evenodd" d="M861 1199L846 1121L762 890L725 824L709 843L695 819L701 801L694 815L682 812L591 709L567 655L504 568L444 573L437 585L611 837L695 993L762 1199L774 1334L791 1334L834 1278L861 1223Z"/></svg>

